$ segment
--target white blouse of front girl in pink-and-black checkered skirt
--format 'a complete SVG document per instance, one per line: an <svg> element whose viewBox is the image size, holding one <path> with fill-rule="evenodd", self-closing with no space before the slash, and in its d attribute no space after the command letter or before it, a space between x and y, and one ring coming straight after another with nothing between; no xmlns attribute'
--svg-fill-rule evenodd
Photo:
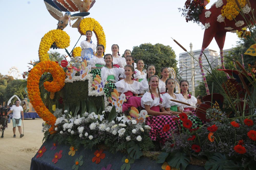
<svg viewBox="0 0 256 170"><path fill-rule="evenodd" d="M165 105L165 100L163 98L163 96L160 94L160 97L162 98L163 102L160 103L160 98L159 97L155 97L155 99L153 100L152 97L151 97L151 94L149 92L146 92L142 98L141 98L141 106L143 108L145 108L145 105L149 105L150 108L151 107L154 107L154 106L159 106L160 109L162 107L164 107Z"/></svg>

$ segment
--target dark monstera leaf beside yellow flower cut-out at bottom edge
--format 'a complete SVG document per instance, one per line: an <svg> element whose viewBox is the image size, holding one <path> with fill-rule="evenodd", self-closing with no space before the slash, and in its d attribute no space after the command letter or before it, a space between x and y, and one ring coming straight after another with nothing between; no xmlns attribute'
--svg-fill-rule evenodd
<svg viewBox="0 0 256 170"><path fill-rule="evenodd" d="M185 169L189 164L190 158L185 152L173 151L166 161L172 167Z"/></svg>

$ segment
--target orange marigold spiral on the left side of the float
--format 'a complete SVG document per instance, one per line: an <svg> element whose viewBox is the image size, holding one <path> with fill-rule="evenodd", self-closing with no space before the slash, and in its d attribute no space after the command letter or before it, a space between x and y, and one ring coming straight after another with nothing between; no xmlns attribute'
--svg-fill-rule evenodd
<svg viewBox="0 0 256 170"><path fill-rule="evenodd" d="M49 132L54 133L54 124L56 117L46 108L40 97L39 80L43 73L49 72L52 74L52 82L44 82L44 87L47 91L55 93L62 89L65 85L65 72L63 69L54 61L41 61L28 74L27 88L28 97L30 102L35 108L37 114L49 125L51 128Z"/></svg>

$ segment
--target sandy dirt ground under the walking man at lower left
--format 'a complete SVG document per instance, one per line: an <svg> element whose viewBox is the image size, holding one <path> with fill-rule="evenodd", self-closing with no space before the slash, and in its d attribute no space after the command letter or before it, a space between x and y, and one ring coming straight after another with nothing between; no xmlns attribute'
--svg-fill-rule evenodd
<svg viewBox="0 0 256 170"><path fill-rule="evenodd" d="M23 122L24 137L19 137L16 127L16 138L13 138L11 120L11 123L8 123L8 128L4 131L4 138L0 138L1 169L30 169L31 159L42 145L43 133L41 130L44 121L36 118L35 120L25 119ZM21 127L23 130L23 125Z"/></svg>

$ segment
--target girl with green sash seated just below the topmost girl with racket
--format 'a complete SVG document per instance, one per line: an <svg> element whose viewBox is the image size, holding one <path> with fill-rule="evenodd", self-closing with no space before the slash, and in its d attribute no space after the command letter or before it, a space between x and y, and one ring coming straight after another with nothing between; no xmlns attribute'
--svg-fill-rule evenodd
<svg viewBox="0 0 256 170"><path fill-rule="evenodd" d="M89 64L92 66L91 74L93 78L98 74L101 75L101 68L106 65L104 56L104 46L99 44L97 45L97 55L90 59Z"/></svg>

